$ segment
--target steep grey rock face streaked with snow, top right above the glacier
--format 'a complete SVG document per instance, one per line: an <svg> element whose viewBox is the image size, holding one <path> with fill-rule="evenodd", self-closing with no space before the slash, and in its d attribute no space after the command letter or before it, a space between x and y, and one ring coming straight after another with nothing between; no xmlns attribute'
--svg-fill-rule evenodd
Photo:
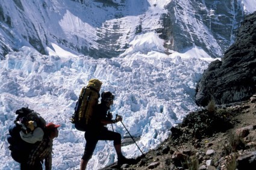
<svg viewBox="0 0 256 170"><path fill-rule="evenodd" d="M182 52L198 46L213 58L221 57L234 42L237 26L244 15L240 1L176 0L166 8L171 23L167 39L173 40L169 49Z"/></svg>

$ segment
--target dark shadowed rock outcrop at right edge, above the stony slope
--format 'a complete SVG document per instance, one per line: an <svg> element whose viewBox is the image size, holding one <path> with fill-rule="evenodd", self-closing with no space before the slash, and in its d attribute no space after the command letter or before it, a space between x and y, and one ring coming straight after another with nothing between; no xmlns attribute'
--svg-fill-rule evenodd
<svg viewBox="0 0 256 170"><path fill-rule="evenodd" d="M206 106L247 99L256 92L256 12L245 17L222 61L211 62L198 83L196 103Z"/></svg>

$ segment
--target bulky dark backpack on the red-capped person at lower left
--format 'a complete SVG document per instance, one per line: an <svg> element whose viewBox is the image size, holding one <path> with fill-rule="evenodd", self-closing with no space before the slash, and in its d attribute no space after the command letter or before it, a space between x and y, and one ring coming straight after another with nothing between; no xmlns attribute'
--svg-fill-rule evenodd
<svg viewBox="0 0 256 170"><path fill-rule="evenodd" d="M24 163L27 162L30 151L35 143L43 139L42 135L44 134L45 120L40 117L39 114L28 108L18 109L16 114L17 117L14 123L9 127L7 141L10 144L9 149L11 151L11 157L16 162ZM39 130L40 133L33 134L35 130ZM35 136L36 134L39 134L40 137ZM27 140L24 140L25 138L27 138Z"/></svg>

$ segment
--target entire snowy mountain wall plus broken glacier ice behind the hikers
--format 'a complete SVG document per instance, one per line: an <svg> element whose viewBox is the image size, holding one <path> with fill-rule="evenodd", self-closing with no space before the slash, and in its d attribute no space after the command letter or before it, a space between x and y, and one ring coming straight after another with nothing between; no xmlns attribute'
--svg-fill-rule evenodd
<svg viewBox="0 0 256 170"><path fill-rule="evenodd" d="M4 142L14 111L29 106L61 124L53 169L77 169L82 132L69 122L90 78L116 94L111 111L143 152L196 109L195 87L213 58L234 41L254 0L0 0L1 169L18 169ZM111 128L111 127L110 127ZM114 130L128 136L122 124ZM123 147L128 157L136 145ZM111 142L99 142L88 169L116 159Z"/></svg>

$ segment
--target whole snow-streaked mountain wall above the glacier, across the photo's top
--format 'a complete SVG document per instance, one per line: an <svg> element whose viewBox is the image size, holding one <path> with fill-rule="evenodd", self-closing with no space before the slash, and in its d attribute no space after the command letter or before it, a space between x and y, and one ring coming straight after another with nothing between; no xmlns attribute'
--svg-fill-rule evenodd
<svg viewBox="0 0 256 170"><path fill-rule="evenodd" d="M78 55L111 58L147 32L164 40L160 52L199 47L221 57L245 15L242 2L0 0L0 57L22 46L49 55L57 44Z"/></svg>

